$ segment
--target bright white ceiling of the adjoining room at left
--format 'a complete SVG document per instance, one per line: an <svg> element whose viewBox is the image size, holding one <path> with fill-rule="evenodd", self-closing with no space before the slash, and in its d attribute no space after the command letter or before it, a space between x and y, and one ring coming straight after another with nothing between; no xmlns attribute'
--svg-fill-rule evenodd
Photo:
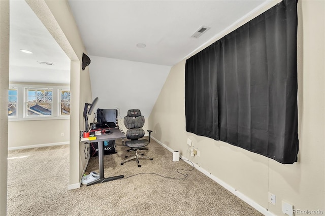
<svg viewBox="0 0 325 216"><path fill-rule="evenodd" d="M10 0L9 64L10 82L70 84L70 59L24 0Z"/></svg>

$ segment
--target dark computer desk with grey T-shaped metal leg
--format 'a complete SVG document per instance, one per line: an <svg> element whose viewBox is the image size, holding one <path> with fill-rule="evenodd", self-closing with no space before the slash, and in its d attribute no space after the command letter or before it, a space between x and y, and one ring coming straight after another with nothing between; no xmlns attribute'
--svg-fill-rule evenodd
<svg viewBox="0 0 325 216"><path fill-rule="evenodd" d="M113 181L118 178L123 178L124 175L117 175L117 176L112 176L105 178L104 177L104 141L107 140L115 140L115 139L120 139L120 138L125 138L125 134L122 133L118 128L110 128L111 133L109 134L103 134L103 135L97 135L96 139L94 140L83 140L80 141L82 143L86 142L99 142L98 143L98 159L99 159L99 166L100 166L100 178L96 181L93 181L91 183L88 183L87 186L94 185L94 184L99 184L99 183L104 183L104 182L109 182Z"/></svg>

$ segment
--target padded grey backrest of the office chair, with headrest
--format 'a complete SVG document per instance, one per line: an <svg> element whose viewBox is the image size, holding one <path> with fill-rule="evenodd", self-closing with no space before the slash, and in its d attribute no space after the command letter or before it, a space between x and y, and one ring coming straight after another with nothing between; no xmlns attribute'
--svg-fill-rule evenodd
<svg viewBox="0 0 325 216"><path fill-rule="evenodd" d="M128 129L126 131L126 138L128 139L139 139L144 136L144 116L141 115L140 110L128 110L124 117L124 125Z"/></svg>

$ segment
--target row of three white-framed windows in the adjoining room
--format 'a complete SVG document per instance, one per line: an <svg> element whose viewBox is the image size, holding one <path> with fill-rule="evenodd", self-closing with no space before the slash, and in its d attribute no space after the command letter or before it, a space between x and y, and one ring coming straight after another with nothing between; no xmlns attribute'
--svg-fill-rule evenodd
<svg viewBox="0 0 325 216"><path fill-rule="evenodd" d="M1 1L1 0L0 0ZM9 84L9 121L70 118L70 86Z"/></svg>

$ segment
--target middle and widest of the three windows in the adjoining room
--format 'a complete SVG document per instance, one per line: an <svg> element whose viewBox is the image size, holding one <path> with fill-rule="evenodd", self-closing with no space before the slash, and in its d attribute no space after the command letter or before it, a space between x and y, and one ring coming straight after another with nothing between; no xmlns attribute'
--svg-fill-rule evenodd
<svg viewBox="0 0 325 216"><path fill-rule="evenodd" d="M53 89L25 89L25 114L29 116L52 116Z"/></svg>

